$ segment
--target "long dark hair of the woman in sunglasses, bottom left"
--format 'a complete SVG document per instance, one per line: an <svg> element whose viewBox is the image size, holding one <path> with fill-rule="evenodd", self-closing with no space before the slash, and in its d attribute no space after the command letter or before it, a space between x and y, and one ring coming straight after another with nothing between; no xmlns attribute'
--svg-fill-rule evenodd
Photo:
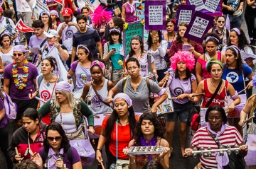
<svg viewBox="0 0 256 169"><path fill-rule="evenodd" d="M61 125L57 122L52 122L48 125L48 127L46 127L46 139L43 140L43 148L45 149L45 151L48 152L50 148L49 142L47 140L49 130L55 130L60 134L60 136L62 137L60 148L64 148L64 152L66 153L68 151L68 148L70 148L69 139L68 136L65 134L63 127L61 127Z"/></svg>

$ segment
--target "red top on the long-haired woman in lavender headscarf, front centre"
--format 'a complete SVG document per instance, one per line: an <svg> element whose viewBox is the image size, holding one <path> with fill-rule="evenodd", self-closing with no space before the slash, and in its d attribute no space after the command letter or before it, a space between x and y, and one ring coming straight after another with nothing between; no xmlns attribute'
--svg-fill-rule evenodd
<svg viewBox="0 0 256 169"><path fill-rule="evenodd" d="M102 122L102 128L106 129L107 127L107 120L110 116L105 117ZM139 121L139 116L136 116L136 121ZM114 123L114 129L111 134L111 141L110 141L110 152L113 156L117 156L117 139L116 139L116 128L117 122ZM119 159L127 159L128 157L124 155L122 152L124 148L128 147L129 141L132 140L132 132L129 127L129 124L125 126L118 125L118 158Z"/></svg>

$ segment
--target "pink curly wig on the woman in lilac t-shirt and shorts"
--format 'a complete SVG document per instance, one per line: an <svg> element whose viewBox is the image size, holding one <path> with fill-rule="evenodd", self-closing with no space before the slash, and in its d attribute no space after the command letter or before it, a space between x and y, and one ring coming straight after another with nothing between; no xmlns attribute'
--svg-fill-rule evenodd
<svg viewBox="0 0 256 169"><path fill-rule="evenodd" d="M174 54L173 57L171 57L171 68L176 70L177 69L177 63L179 61L185 62L186 67L191 70L193 69L195 65L195 58L191 52L188 51L178 51Z"/></svg>

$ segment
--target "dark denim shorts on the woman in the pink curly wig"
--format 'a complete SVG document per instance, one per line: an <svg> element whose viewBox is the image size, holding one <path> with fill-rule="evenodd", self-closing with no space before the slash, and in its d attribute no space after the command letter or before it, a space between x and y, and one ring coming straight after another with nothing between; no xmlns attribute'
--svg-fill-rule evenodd
<svg viewBox="0 0 256 169"><path fill-rule="evenodd" d="M176 122L178 121L178 117L180 122L188 122L189 112L191 111L193 106L191 101L185 104L179 104L175 102L173 103L174 103L174 112L170 112L167 114L167 117L166 117L167 122Z"/></svg>

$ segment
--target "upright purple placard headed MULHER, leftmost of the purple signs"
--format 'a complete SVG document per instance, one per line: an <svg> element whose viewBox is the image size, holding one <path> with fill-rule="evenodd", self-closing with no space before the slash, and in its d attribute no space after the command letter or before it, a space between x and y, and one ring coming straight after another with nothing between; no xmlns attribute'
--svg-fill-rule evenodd
<svg viewBox="0 0 256 169"><path fill-rule="evenodd" d="M166 1L145 1L146 30L166 29Z"/></svg>

